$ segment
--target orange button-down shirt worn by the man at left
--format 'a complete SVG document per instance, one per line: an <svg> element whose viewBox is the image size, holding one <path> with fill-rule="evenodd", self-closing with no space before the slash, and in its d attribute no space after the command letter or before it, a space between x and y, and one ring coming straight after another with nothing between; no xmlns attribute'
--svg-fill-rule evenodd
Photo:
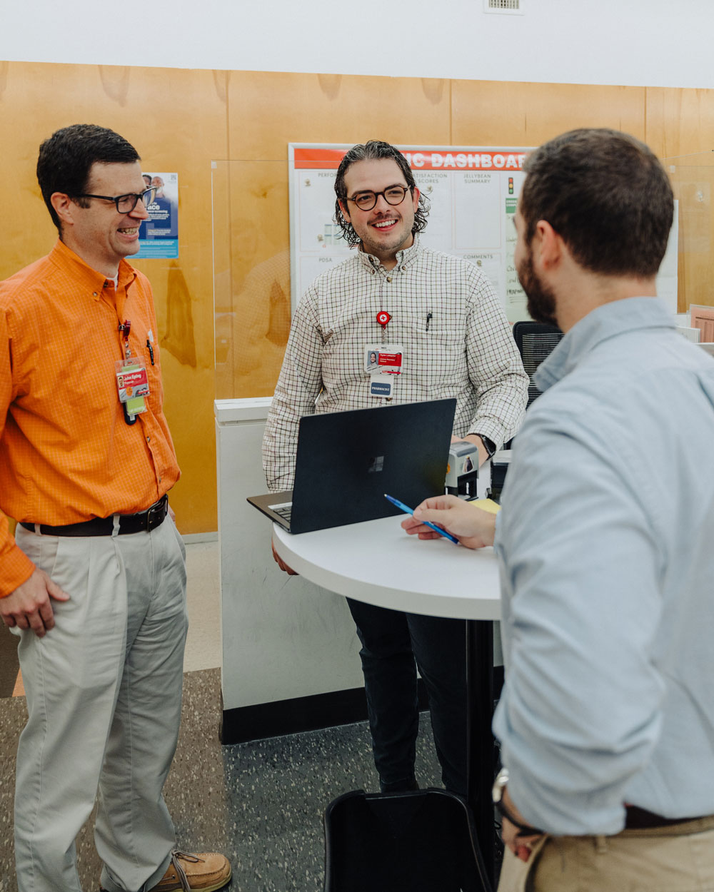
<svg viewBox="0 0 714 892"><path fill-rule="evenodd" d="M125 319L150 390L134 425L124 420L115 368ZM151 286L125 260L115 290L57 242L0 283L0 597L34 570L7 516L61 525L133 514L176 483L162 403Z"/></svg>

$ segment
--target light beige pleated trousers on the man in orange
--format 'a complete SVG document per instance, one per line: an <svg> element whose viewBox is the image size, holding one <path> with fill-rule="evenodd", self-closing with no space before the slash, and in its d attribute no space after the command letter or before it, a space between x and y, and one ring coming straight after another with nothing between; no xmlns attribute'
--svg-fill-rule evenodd
<svg viewBox="0 0 714 892"><path fill-rule="evenodd" d="M151 888L175 846L162 788L179 737L187 632L179 532L167 517L121 536L18 526L16 541L71 596L53 601L44 638L19 632L29 712L15 787L19 892L81 892L75 837L97 789L102 886Z"/></svg>

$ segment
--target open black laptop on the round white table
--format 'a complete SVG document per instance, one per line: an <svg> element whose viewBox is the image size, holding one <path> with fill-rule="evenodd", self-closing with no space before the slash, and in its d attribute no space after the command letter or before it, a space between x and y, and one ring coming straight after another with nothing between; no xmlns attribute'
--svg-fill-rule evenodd
<svg viewBox="0 0 714 892"><path fill-rule="evenodd" d="M295 485L248 501L289 533L401 514L444 492L456 400L409 402L300 419Z"/></svg>

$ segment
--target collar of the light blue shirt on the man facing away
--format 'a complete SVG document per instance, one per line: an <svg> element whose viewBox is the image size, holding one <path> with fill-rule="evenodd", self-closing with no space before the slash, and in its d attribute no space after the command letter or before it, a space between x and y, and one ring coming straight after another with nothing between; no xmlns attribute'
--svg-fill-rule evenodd
<svg viewBox="0 0 714 892"><path fill-rule="evenodd" d="M611 337L643 328L674 328L675 320L656 297L627 297L605 303L574 325L535 371L533 380L545 391L569 375L587 353Z"/></svg>

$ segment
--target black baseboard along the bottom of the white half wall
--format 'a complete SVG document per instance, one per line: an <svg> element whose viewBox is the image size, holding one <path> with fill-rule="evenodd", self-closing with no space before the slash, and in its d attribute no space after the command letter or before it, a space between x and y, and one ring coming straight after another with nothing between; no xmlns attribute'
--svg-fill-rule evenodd
<svg viewBox="0 0 714 892"><path fill-rule="evenodd" d="M424 684L419 679L419 708L428 708ZM220 727L222 744L246 743L265 737L320 731L336 725L364 722L367 719L367 699L364 688L335 690L328 694L237 706L224 709Z"/></svg>

